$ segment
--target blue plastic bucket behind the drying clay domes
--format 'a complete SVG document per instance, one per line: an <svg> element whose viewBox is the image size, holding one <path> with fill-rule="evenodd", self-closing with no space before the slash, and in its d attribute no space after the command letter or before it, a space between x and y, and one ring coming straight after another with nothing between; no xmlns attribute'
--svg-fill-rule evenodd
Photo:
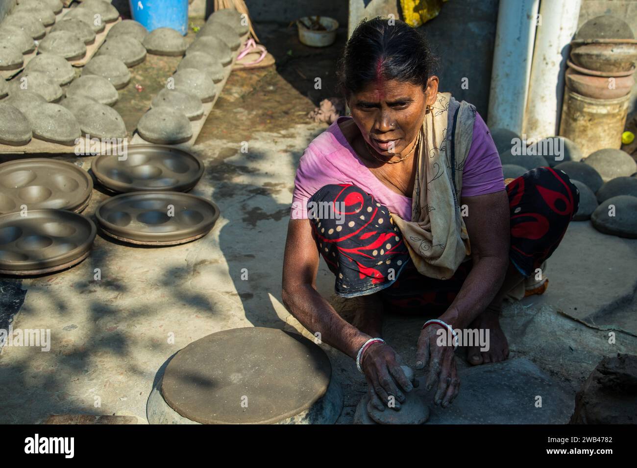
<svg viewBox="0 0 637 468"><path fill-rule="evenodd" d="M188 0L129 0L132 18L148 31L171 27L185 36L188 31Z"/></svg>

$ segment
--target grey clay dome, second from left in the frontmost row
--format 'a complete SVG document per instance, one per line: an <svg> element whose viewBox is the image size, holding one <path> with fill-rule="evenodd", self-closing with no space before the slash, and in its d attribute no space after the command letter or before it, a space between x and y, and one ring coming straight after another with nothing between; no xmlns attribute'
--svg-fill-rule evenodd
<svg viewBox="0 0 637 468"><path fill-rule="evenodd" d="M75 115L59 104L42 104L27 113L34 138L73 145L80 136L80 124Z"/></svg>

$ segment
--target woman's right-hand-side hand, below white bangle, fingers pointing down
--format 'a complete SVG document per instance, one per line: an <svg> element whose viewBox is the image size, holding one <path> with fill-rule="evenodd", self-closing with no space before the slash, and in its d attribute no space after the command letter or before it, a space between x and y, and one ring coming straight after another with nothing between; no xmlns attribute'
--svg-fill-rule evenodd
<svg viewBox="0 0 637 468"><path fill-rule="evenodd" d="M438 341L438 330L447 329L438 325L429 325L420 332L418 338L418 351L416 351L416 369L424 369L427 364L427 392L436 386L434 403L441 404L447 408L460 390L460 379L455 369L455 354L452 343L448 346L440 346Z"/></svg>

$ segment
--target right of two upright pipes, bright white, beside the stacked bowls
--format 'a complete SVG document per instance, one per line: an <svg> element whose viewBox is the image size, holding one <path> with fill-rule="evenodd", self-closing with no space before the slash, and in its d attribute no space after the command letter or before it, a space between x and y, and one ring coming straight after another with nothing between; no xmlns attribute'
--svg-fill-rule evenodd
<svg viewBox="0 0 637 468"><path fill-rule="evenodd" d="M535 36L525 122L529 140L557 135L569 43L577 30L581 4L581 0L545 0L540 4L541 24Z"/></svg>

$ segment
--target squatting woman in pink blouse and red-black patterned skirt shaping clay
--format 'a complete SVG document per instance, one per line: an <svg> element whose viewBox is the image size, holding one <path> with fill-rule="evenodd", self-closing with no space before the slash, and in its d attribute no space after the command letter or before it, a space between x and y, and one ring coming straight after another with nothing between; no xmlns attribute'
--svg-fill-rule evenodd
<svg viewBox="0 0 637 468"><path fill-rule="evenodd" d="M438 92L420 33L375 18L340 62L351 110L310 143L297 169L283 266L283 302L322 341L357 360L370 404L400 408L413 382L380 339L384 311L436 313L420 332L416 369L446 407L458 394L452 329L487 329L471 364L508 356L503 297L551 255L577 211L578 191L541 167L510 182L471 104ZM336 293L361 297L351 325L314 287L318 252ZM393 398L392 398L393 397Z"/></svg>

